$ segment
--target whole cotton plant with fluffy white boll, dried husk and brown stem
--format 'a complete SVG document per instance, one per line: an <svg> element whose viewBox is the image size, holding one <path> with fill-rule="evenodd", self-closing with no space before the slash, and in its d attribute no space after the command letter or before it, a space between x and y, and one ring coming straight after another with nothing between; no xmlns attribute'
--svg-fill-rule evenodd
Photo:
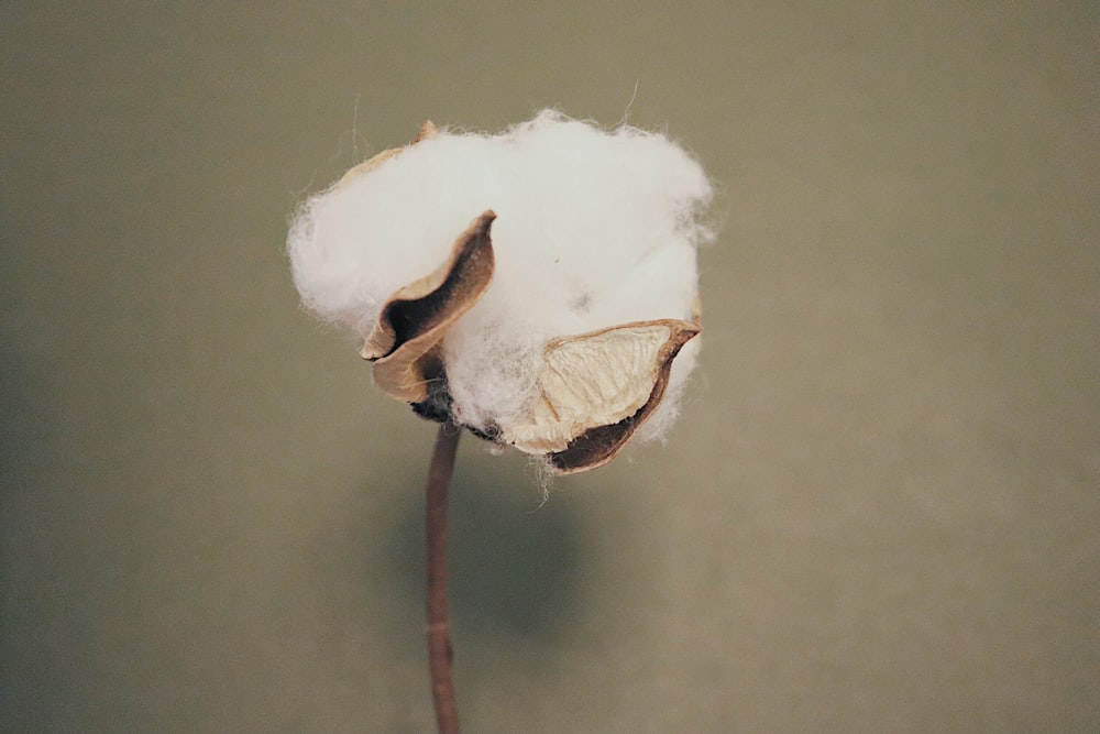
<svg viewBox="0 0 1100 734"><path fill-rule="evenodd" d="M666 136L548 110L495 135L425 123L299 208L288 251L302 303L361 340L378 387L442 424L429 574L446 571L430 517L446 517L460 428L568 474L675 421L711 194ZM429 647L440 728L455 731L442 588Z"/></svg>

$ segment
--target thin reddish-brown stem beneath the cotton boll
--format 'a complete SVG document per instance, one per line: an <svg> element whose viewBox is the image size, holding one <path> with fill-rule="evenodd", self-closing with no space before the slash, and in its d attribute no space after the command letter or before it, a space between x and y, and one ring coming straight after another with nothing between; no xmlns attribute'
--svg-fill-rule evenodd
<svg viewBox="0 0 1100 734"><path fill-rule="evenodd" d="M439 427L428 472L428 668L440 734L458 734L459 731L451 681L451 623L447 611L447 490L454 469L459 435L459 428L450 421Z"/></svg>

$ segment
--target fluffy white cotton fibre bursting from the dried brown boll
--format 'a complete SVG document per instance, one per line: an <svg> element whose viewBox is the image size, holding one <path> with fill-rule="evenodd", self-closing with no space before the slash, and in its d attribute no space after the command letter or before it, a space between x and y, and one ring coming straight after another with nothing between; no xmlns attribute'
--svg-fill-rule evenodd
<svg viewBox="0 0 1100 734"><path fill-rule="evenodd" d="M710 197L702 167L664 136L543 111L497 135L441 131L315 196L288 249L305 305L365 337L394 292L494 210L492 283L442 342L453 418L485 430L518 420L536 397L550 340L696 316ZM675 418L696 342L675 358L640 438Z"/></svg>

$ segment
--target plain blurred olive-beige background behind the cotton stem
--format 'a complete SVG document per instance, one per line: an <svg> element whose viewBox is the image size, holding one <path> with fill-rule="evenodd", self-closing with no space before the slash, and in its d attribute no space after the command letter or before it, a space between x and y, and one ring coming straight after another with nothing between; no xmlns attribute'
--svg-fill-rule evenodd
<svg viewBox="0 0 1100 734"><path fill-rule="evenodd" d="M433 426L287 216L634 97L722 189L703 366L541 507L463 439L466 730L1100 730L1100 11L971 4L0 3L0 728L429 731Z"/></svg>

